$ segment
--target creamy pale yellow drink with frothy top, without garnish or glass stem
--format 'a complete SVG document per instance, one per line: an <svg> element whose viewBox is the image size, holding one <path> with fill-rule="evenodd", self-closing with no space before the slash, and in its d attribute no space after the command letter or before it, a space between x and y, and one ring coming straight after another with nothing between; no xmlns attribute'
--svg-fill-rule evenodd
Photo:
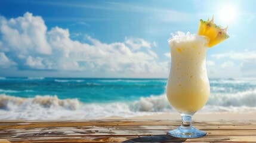
<svg viewBox="0 0 256 143"><path fill-rule="evenodd" d="M205 67L209 38L180 32L168 42L171 48L168 100L180 113L193 114L206 104L210 93Z"/></svg>

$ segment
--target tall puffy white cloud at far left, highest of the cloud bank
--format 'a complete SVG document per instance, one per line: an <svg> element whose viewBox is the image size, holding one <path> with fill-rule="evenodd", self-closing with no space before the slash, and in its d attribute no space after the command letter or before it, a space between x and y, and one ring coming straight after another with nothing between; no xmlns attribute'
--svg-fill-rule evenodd
<svg viewBox="0 0 256 143"><path fill-rule="evenodd" d="M6 20L0 16L0 33L2 46L8 51L39 54L51 54L51 46L47 42L45 33L47 27L39 16L25 13L23 17ZM5 50L6 51L6 50Z"/></svg>

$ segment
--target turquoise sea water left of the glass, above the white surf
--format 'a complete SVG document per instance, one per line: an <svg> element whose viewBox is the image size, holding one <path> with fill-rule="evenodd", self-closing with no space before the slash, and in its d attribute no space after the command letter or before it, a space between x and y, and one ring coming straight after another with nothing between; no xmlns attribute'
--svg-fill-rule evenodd
<svg viewBox="0 0 256 143"><path fill-rule="evenodd" d="M5 78L0 80L0 94L33 98L35 95L57 95L60 99L79 101L132 101L165 92L166 79L65 79Z"/></svg>

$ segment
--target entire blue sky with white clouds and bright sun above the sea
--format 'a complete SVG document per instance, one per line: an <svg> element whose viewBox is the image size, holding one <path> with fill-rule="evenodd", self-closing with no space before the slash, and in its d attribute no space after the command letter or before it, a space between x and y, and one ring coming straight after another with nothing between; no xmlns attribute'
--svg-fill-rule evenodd
<svg viewBox="0 0 256 143"><path fill-rule="evenodd" d="M199 20L228 26L209 78L256 77L256 1L0 0L0 77L166 78L167 39Z"/></svg>

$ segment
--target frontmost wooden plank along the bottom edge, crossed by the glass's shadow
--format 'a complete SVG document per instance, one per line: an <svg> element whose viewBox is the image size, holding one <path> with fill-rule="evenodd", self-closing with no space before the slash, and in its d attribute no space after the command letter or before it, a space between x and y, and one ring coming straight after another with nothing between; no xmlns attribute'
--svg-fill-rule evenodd
<svg viewBox="0 0 256 143"><path fill-rule="evenodd" d="M195 139L180 139L168 135L155 136L54 136L34 138L10 138L16 142L255 142L256 136L205 136Z"/></svg>

